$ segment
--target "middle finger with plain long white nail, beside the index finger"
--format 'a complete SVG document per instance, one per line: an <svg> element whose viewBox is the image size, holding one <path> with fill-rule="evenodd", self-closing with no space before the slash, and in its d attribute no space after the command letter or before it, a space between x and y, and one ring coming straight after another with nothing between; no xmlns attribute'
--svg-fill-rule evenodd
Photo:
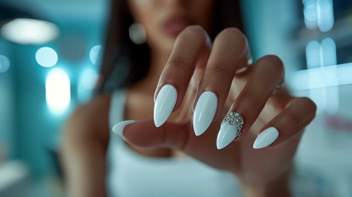
<svg viewBox="0 0 352 197"><path fill-rule="evenodd" d="M224 29L215 38L194 102L193 129L197 136L220 116L235 72L241 60L250 56L249 51L246 37L237 28Z"/></svg>

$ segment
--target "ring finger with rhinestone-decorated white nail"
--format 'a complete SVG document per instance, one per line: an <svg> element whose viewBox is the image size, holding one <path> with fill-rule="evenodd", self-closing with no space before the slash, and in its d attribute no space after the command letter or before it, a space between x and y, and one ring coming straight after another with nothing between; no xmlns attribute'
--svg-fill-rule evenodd
<svg viewBox="0 0 352 197"><path fill-rule="evenodd" d="M283 76L283 64L278 57L267 55L257 61L246 85L230 109L232 113L225 117L221 125L216 139L218 149L245 136L276 86L282 82Z"/></svg>

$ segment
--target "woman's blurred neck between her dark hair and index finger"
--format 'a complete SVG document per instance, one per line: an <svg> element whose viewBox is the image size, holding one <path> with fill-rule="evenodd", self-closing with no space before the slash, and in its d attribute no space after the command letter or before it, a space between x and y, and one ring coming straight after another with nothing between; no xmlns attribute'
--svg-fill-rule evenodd
<svg viewBox="0 0 352 197"><path fill-rule="evenodd" d="M149 72L144 77L144 79L138 83L138 86L142 87L144 90L150 90L154 93L160 75L163 72L163 69L169 59L169 56L170 53L151 50Z"/></svg>

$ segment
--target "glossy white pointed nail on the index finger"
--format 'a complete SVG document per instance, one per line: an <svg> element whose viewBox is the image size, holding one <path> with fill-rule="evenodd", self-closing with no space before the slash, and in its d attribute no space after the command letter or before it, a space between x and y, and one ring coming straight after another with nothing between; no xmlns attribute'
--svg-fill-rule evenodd
<svg viewBox="0 0 352 197"><path fill-rule="evenodd" d="M172 85L164 85L158 93L154 104L154 123L161 126L169 118L177 100L176 88Z"/></svg>

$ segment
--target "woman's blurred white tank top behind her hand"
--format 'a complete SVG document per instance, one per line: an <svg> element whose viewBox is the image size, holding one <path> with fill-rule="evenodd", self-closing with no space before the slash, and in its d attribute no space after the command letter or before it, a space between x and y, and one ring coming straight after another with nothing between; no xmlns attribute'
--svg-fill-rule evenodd
<svg viewBox="0 0 352 197"><path fill-rule="evenodd" d="M129 149L112 127L124 120L125 91L115 91L109 112L107 151L109 197L236 197L237 181L229 172L193 158L149 158Z"/></svg>

